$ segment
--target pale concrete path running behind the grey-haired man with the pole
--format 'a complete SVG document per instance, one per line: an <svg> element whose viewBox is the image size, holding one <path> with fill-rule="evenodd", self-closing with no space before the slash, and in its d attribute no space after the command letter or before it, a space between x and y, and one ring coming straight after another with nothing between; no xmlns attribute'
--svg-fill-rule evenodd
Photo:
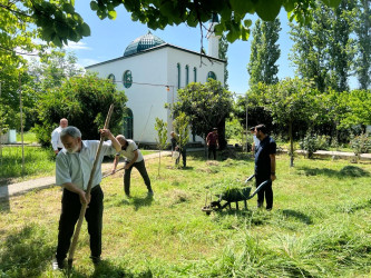
<svg viewBox="0 0 371 278"><path fill-rule="evenodd" d="M169 157L172 151L162 151L162 157ZM144 156L145 160L158 158L159 152ZM113 167L113 162L106 162L101 165L101 171L108 172ZM105 175L105 173L104 173ZM56 177L45 177L39 179L26 180L18 183L0 187L0 200L9 199L11 196L25 193L33 189L48 188L56 185Z"/></svg>

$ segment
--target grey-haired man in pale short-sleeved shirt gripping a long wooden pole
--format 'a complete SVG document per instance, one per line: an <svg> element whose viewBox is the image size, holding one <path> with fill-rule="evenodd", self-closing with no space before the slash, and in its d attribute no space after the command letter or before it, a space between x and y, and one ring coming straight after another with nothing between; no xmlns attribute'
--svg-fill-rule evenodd
<svg viewBox="0 0 371 278"><path fill-rule="evenodd" d="M99 141L82 141L80 130L71 126L60 132L60 139L65 149L59 151L56 159L56 183L64 188L64 193L53 269L65 268L65 259L79 218L81 203L89 205L85 218L88 222L88 232L90 235L90 258L95 265L100 262L104 210L104 193L99 186L101 181L101 161L104 156L115 155L120 150L120 143L108 129L101 129L100 135L110 140L102 143L100 156L97 158L97 170L92 177L91 192L87 196L86 190L99 148Z"/></svg>

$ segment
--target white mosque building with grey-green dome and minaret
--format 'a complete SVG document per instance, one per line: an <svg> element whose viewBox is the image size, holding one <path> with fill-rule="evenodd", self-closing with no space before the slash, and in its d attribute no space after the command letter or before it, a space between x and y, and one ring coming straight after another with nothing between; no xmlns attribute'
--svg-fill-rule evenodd
<svg viewBox="0 0 371 278"><path fill-rule="evenodd" d="M218 37L208 36L208 54L166 43L148 32L135 39L125 49L124 56L86 67L100 78L109 78L124 90L128 101L124 118L124 135L136 142L156 142L156 117L167 122L173 130L173 118L165 103L177 99L177 89L191 82L204 83L208 78L224 85L225 60L218 59ZM199 141L191 136L189 141Z"/></svg>

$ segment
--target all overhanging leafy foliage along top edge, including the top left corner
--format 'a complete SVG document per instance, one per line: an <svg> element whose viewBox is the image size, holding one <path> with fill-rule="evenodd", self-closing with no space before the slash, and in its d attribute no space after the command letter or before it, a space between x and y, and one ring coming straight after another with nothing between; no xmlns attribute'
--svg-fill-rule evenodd
<svg viewBox="0 0 371 278"><path fill-rule="evenodd" d="M340 0L322 0L329 7L336 7ZM207 22L213 14L219 17L215 27L217 34L226 32L230 42L236 39L247 40L252 21L247 14L256 13L265 21L274 20L281 8L287 12L290 20L306 23L311 20L314 0L92 0L91 10L100 19L117 17L116 8L123 4L131 13L131 19L145 23L150 29L164 29L166 26L186 23L197 27ZM90 36L90 28L81 16L75 11L75 0L25 0L1 1L0 30L8 33L20 24L35 23L38 36L48 42L61 47L68 40L79 41ZM13 23L10 23L10 19ZM1 42L2 44L2 42Z"/></svg>

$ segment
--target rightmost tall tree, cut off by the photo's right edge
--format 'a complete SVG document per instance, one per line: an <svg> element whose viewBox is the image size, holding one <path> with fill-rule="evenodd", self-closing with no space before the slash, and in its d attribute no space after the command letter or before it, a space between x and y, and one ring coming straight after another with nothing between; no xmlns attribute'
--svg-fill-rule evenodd
<svg viewBox="0 0 371 278"><path fill-rule="evenodd" d="M359 0L357 4L357 76L360 82L360 89L365 90L369 89L371 85L371 1Z"/></svg>

